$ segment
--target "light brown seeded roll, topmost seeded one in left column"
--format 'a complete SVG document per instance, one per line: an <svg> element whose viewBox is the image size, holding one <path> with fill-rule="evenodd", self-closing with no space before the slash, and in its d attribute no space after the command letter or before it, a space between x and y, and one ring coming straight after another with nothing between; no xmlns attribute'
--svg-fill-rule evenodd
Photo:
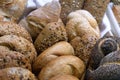
<svg viewBox="0 0 120 80"><path fill-rule="evenodd" d="M21 26L13 22L0 22L0 36L17 35L32 42L30 34Z"/></svg>

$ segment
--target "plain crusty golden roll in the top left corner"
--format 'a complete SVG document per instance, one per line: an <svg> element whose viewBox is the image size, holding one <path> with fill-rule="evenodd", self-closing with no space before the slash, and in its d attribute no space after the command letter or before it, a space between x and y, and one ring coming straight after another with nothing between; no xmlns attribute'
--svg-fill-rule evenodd
<svg viewBox="0 0 120 80"><path fill-rule="evenodd" d="M27 0L1 0L0 15L3 15L7 20L14 19L18 21L22 16L27 5Z"/></svg>

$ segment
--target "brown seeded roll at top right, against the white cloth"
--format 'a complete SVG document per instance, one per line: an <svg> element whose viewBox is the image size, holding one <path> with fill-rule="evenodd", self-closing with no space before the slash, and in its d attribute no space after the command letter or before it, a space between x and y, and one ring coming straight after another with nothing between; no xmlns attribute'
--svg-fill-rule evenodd
<svg viewBox="0 0 120 80"><path fill-rule="evenodd" d="M100 25L109 2L110 0L85 0L84 9L89 11Z"/></svg>

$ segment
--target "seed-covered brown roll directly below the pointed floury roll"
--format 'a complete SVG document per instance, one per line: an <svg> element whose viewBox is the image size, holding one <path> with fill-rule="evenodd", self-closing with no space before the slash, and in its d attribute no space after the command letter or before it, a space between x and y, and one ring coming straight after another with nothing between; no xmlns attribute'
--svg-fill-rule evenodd
<svg viewBox="0 0 120 80"><path fill-rule="evenodd" d="M35 48L40 54L48 47L54 45L59 41L67 41L66 30L60 22L52 22L42 30L34 42Z"/></svg>

